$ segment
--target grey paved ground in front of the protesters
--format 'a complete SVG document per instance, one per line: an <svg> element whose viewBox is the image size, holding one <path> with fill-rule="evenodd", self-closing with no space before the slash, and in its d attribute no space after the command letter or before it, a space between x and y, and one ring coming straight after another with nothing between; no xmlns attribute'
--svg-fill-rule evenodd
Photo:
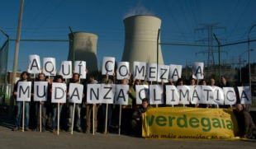
<svg viewBox="0 0 256 149"><path fill-rule="evenodd" d="M4 119L2 119L4 120ZM2 121L1 120L1 121ZM141 137L115 133L96 135L76 133L12 132L12 125L0 122L0 148L255 148L256 140L201 141L201 140L146 140Z"/></svg>

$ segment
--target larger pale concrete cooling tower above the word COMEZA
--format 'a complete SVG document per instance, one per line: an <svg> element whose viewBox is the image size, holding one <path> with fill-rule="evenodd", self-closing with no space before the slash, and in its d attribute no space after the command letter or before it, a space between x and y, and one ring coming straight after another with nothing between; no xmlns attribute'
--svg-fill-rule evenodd
<svg viewBox="0 0 256 149"><path fill-rule="evenodd" d="M157 39L161 20L155 16L130 16L124 20L126 29L123 62L130 62L130 72L133 72L133 62L157 63ZM159 46L159 63L163 64L161 46Z"/></svg>

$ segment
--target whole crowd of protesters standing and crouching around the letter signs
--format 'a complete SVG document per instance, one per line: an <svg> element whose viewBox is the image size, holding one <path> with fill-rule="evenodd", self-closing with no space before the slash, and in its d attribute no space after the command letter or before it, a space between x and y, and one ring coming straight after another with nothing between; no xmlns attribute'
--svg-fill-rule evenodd
<svg viewBox="0 0 256 149"><path fill-rule="evenodd" d="M64 80L62 76L56 75L53 81L49 77L45 77L44 73L39 73L36 78L33 80L30 77L28 72L21 73L21 79L19 81L48 81L48 100L45 102L35 102L33 101L33 90L31 91L31 102L25 101L25 121L24 128L26 131L31 129L40 130L40 122L42 126L42 132L45 132L46 129L50 129L52 133L56 133L57 128L57 104L51 103L51 93L52 93L52 82L66 83L67 84L67 95L69 95L69 83L78 83L82 84L83 87L83 102L82 104L76 104L73 106L72 103L60 103L59 104L59 123L60 129L62 131L66 130L68 132L72 131L72 119L73 119L73 108L74 108L74 130L79 133L92 133L92 130L97 133L108 133L108 131L115 130L118 128L118 119L119 112L118 109L121 108L124 110L122 113L121 119L121 128L126 133L134 132L141 134L141 120L142 114L145 113L147 109L150 108L149 99L143 99L142 105L136 105L136 95L135 95L135 86L136 85L149 85L148 81L140 81L138 79L128 79L124 78L121 81L116 80L115 74L113 76L103 75L101 79L97 78L97 73L91 73L88 75L88 79L80 81L80 75L78 73L73 73L72 79L69 81ZM133 77L130 77L133 78ZM17 85L14 86L13 95L17 95ZM129 100L128 105L108 105L108 104L88 104L87 102L87 84L123 84L129 85ZM32 83L33 84L33 83ZM178 79L178 81L173 82L171 80L168 83L161 82L162 85L175 85L183 86L185 85L183 79ZM211 77L209 83L206 80L201 80L197 82L196 79L191 78L189 81L190 86L203 85L203 86L216 86L215 78ZM227 81L225 76L222 76L220 79L220 84L217 85L222 87L230 86L230 83ZM32 87L33 89L33 87ZM239 100L237 100L239 102ZM16 102L17 112L15 116L15 127L13 131L19 130L21 128L21 114L23 102ZM39 106L41 105L41 111ZM166 105L161 105L166 106ZM189 105L188 105L189 106ZM194 107L201 108L214 108L214 105L191 105ZM225 108L225 107L223 107ZM94 111L93 111L94 109ZM108 110L106 110L108 109ZM239 136L240 137L255 137L256 128L252 118L249 113L244 110L243 105L236 105L236 116L239 123ZM40 119L41 112L41 119ZM92 119L92 113L94 112L94 119ZM106 113L107 112L107 113ZM107 118L107 120L106 120ZM94 127L92 126L92 121L94 122ZM105 123L107 122L107 123ZM92 128L93 127L93 128Z"/></svg>

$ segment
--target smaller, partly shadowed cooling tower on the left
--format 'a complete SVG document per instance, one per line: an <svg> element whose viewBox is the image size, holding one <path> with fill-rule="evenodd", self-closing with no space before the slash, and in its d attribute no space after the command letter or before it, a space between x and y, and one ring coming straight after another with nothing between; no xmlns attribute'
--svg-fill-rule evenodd
<svg viewBox="0 0 256 149"><path fill-rule="evenodd" d="M97 35L86 32L74 32L73 34L69 34L68 59L86 61L88 72L97 71Z"/></svg>

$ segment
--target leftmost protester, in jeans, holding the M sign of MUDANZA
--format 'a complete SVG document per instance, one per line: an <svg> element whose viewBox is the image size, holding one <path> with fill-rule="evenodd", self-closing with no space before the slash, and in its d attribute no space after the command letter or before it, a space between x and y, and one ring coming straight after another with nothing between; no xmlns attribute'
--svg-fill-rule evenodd
<svg viewBox="0 0 256 149"><path fill-rule="evenodd" d="M13 95L16 97L16 99L17 99L17 95L18 95L18 84L21 81L30 81L30 75L29 75L28 72L22 72L21 73L21 79L19 81L17 81L16 85L14 86ZM19 88L19 90L21 92L23 92L24 94L29 91L27 93L27 95L30 95L31 94L31 91L30 91L31 89L30 90L27 90L27 89L29 89L29 88L26 88L26 89L23 89L22 87ZM20 92L20 94L21 94L21 92ZM28 102L28 101L25 101L25 102L17 101L16 103L17 103L17 114L16 114L16 118L15 118L15 128L13 128L12 130L13 131L17 131L19 129L19 127L20 127L20 124L21 124L21 114L22 114L21 110L22 110L23 103L25 103L25 109L23 110L23 111L25 111L24 127L25 127L26 131L30 131L30 129L29 129L30 102Z"/></svg>

